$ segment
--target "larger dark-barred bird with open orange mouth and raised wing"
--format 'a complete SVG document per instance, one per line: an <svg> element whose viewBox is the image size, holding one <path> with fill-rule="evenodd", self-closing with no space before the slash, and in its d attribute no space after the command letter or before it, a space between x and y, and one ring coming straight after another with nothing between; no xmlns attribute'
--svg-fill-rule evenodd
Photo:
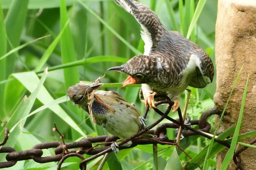
<svg viewBox="0 0 256 170"><path fill-rule="evenodd" d="M122 87L142 84L145 105L154 105L156 93L166 94L174 101L173 111L180 106L179 98L187 86L206 87L212 82L214 66L208 54L179 32L168 31L156 14L134 0L114 0L132 14L142 26L144 55L138 55L124 65L112 67L129 77Z"/></svg>

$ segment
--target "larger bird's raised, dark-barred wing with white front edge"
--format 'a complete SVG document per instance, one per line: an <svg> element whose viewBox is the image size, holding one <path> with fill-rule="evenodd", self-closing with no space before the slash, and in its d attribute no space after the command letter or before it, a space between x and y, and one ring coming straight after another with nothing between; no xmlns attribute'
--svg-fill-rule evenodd
<svg viewBox="0 0 256 170"><path fill-rule="evenodd" d="M141 38L144 41L144 55L149 55L158 46L166 29L158 16L150 8L134 0L114 0L116 4L132 14L142 27Z"/></svg>

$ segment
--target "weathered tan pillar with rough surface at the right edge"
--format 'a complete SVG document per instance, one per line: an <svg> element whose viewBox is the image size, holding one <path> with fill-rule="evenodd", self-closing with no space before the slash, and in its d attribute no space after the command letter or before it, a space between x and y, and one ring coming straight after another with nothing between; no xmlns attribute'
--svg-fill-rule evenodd
<svg viewBox="0 0 256 170"><path fill-rule="evenodd" d="M256 0L218 0L216 22L216 69L217 91L214 103L219 110L230 95L238 71L244 64L240 79L226 109L221 130L237 122L244 85L250 75L246 105L240 133L256 130ZM246 139L244 142L249 142ZM220 168L226 151L217 156ZM242 152L242 166L246 170L256 170L256 149ZM229 169L234 169L232 162Z"/></svg>

